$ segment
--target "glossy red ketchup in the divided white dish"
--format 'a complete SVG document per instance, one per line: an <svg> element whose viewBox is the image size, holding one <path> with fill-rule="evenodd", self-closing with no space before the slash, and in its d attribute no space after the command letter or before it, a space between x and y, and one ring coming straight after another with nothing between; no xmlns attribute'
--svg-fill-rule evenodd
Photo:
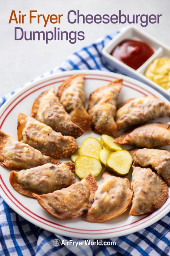
<svg viewBox="0 0 170 256"><path fill-rule="evenodd" d="M145 42L127 39L118 44L111 55L136 70L153 53L153 49Z"/></svg>

